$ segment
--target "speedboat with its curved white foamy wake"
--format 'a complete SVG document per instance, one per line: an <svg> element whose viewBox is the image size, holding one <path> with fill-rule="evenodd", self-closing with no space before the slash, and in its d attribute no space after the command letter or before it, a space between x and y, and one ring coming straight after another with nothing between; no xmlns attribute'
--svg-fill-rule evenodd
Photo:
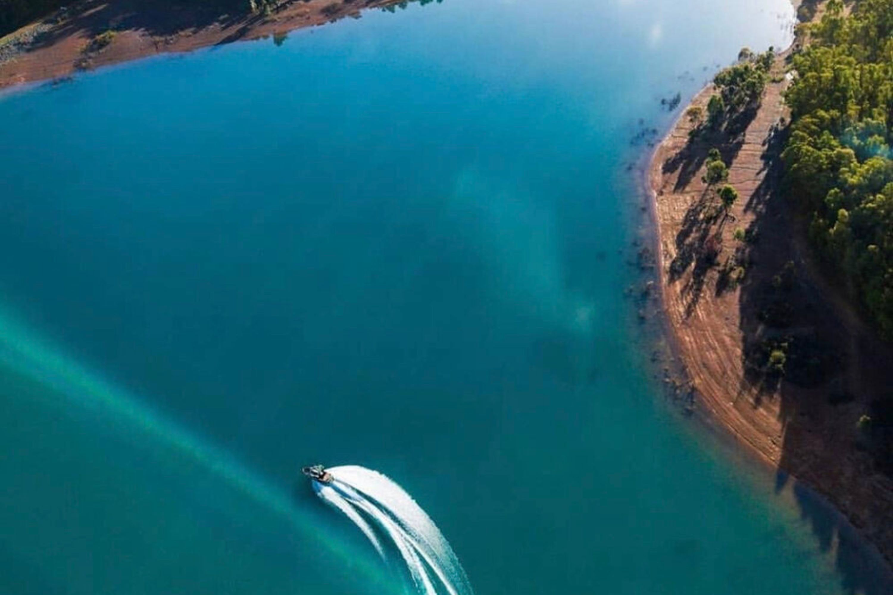
<svg viewBox="0 0 893 595"><path fill-rule="evenodd" d="M313 480L313 491L347 516L388 560L388 542L398 551L423 595L472 595L472 586L437 525L403 488L365 467L326 469L329 482Z"/></svg>

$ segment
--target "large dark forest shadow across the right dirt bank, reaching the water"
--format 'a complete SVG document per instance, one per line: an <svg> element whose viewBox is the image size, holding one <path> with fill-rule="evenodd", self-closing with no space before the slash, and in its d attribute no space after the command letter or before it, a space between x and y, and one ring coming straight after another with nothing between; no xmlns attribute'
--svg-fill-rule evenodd
<svg viewBox="0 0 893 595"><path fill-rule="evenodd" d="M739 394L752 395L753 407L778 402L784 426L781 468L818 490L834 478L859 486L854 492L864 490L860 500L876 497L876 505L869 504L876 517L863 521L875 525L870 531L875 540L889 543L893 514L885 509L884 494L893 483L856 426L872 402L893 396L893 356L889 345L847 324L828 288L814 277L808 252L796 239L805 237L804 218L782 190L780 150L786 136L785 130L773 129L764 144L766 175L745 205L755 219L747 229L752 239L744 248L747 277L739 296L745 369ZM777 490L789 481L779 472ZM893 579L883 578L877 560L869 561L871 549L847 520L803 484L795 483L793 493L820 549L835 557L847 591L891 592Z"/></svg>

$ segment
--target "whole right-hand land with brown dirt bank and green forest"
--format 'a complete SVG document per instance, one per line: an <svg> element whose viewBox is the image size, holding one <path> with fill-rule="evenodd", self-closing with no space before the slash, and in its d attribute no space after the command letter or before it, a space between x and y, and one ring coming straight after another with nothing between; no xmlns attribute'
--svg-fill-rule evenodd
<svg viewBox="0 0 893 595"><path fill-rule="evenodd" d="M672 385L893 560L893 0L799 15L655 151Z"/></svg>

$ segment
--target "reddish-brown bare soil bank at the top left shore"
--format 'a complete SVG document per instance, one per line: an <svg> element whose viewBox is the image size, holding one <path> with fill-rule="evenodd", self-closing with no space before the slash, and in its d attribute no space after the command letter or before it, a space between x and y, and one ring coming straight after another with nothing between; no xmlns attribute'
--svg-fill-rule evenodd
<svg viewBox="0 0 893 595"><path fill-rule="evenodd" d="M60 79L154 54L284 36L400 0L282 0L269 15L222 14L153 0L82 0L0 39L0 88ZM112 34L106 33L113 31Z"/></svg>

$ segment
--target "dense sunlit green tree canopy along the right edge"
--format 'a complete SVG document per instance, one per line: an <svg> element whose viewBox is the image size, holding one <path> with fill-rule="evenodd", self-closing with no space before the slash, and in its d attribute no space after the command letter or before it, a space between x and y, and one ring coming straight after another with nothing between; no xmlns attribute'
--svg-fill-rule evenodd
<svg viewBox="0 0 893 595"><path fill-rule="evenodd" d="M810 235L893 338L893 0L830 0L793 58L782 159Z"/></svg>

